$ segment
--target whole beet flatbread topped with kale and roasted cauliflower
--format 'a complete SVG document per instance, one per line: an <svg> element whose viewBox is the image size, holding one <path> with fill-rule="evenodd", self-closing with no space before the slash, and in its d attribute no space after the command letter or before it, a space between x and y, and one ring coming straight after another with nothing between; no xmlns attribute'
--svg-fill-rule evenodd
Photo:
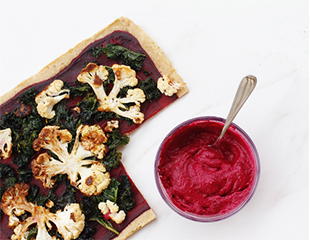
<svg viewBox="0 0 310 240"><path fill-rule="evenodd" d="M0 239L126 239L154 220L119 146L187 92L121 17L4 94Z"/></svg>

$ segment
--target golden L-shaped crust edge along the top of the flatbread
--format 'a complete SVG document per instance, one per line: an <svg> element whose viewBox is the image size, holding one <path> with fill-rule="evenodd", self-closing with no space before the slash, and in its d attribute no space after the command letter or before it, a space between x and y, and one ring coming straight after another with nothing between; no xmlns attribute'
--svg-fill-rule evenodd
<svg viewBox="0 0 310 240"><path fill-rule="evenodd" d="M36 75L26 79L25 81L17 85L14 89L4 94L2 97L0 97L0 105L9 100L10 98L14 97L24 88L34 83L44 81L56 75L66 66L68 66L72 61L72 59L77 57L89 44L117 30L129 32L138 39L142 48L153 60L155 66L157 67L161 75L168 75L173 81L184 84L182 78L176 73L175 69L173 68L170 60L160 49L160 47L142 30L142 28L133 23L128 18L120 17L116 19L113 23L108 25L106 28L102 29L92 37L82 41L74 48L70 49L68 52L61 55L59 58L57 58L56 60L48 64L46 67L44 67ZM177 92L177 96L181 97L188 91L189 91L188 88L184 84L184 86Z"/></svg>

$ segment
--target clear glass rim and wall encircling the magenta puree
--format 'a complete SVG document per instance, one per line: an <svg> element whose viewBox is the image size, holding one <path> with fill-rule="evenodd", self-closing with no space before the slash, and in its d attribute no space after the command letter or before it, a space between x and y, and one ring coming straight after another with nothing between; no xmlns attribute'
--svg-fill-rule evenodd
<svg viewBox="0 0 310 240"><path fill-rule="evenodd" d="M254 180L253 183L253 187L250 191L250 193L247 195L247 197L244 199L244 201L237 206L236 208L234 208L232 211L229 211L225 214L215 214L215 215L198 215L198 214L194 214L194 213L190 213L190 212L183 212L182 210L180 210L178 207L176 207L173 202L170 200L169 196L167 195L167 193L165 192L165 188L163 187L160 178L159 178L159 174L158 174L158 165L159 165L159 156L163 147L163 144L165 143L165 141L167 140L167 138L173 134L174 132L176 132L178 129L187 126L195 121L206 121L206 120L212 120L212 121L218 121L218 122L222 122L224 123L226 119L221 118L221 117L216 117L216 116L200 116L200 117L195 117L195 118L191 118L188 120L185 120L183 122L181 122L180 124L178 124L176 127L174 127L172 130L169 131L169 133L164 137L164 139L162 140L162 142L160 143L160 146L157 150L156 153L156 157L155 157L155 164L154 164L154 177L155 177L155 182L156 182L156 187L161 195L161 198L166 202L166 204L176 213L178 213L179 215L181 215L182 217L185 217L189 220L193 220L193 221L197 221L197 222L216 222L216 221L220 221L223 219L226 219L228 217L231 217L233 215L235 215L236 213L238 213L241 209L243 209L245 207L245 205L247 205L247 203L252 199L254 192L257 189L258 186L258 182L260 179L260 171L261 171L261 166L260 166L260 158L259 158L259 154L258 151L256 149L256 146L253 142L253 140L250 138L250 136L241 128L239 127L237 124L235 123L231 123L230 127L232 126L237 130L237 132L240 133L240 135L242 137L245 138L245 140L248 142L249 146L252 147L254 156L255 156L255 162L256 162L256 179Z"/></svg>

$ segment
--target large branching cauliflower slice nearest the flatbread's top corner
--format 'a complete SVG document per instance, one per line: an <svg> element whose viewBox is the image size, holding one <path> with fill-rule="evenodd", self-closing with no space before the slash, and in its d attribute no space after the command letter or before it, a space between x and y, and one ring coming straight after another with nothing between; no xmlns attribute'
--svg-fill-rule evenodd
<svg viewBox="0 0 310 240"><path fill-rule="evenodd" d="M144 114L140 112L140 103L145 101L144 92L139 88L135 88L128 90L124 98L117 96L122 88L134 87L138 84L136 72L128 66L114 64L112 69L115 74L115 81L112 90L107 95L102 87L102 83L107 79L107 74L102 74L102 76L97 74L97 72L103 71L99 71L99 69L103 68L103 66L98 66L95 63L89 63L77 77L78 81L88 83L93 88L100 103L98 111L114 112L119 116L132 119L134 123L142 123ZM90 78L91 80L89 80ZM135 105L128 108L124 105L126 103L134 103Z"/></svg>

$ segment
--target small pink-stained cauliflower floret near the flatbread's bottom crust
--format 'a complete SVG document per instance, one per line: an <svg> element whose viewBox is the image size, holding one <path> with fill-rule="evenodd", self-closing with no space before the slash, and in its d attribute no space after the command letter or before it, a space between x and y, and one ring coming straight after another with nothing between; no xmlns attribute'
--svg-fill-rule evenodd
<svg viewBox="0 0 310 240"><path fill-rule="evenodd" d="M108 215L117 224L122 223L126 218L126 213L123 210L119 211L117 204L110 200L100 202L98 208L102 214Z"/></svg>

